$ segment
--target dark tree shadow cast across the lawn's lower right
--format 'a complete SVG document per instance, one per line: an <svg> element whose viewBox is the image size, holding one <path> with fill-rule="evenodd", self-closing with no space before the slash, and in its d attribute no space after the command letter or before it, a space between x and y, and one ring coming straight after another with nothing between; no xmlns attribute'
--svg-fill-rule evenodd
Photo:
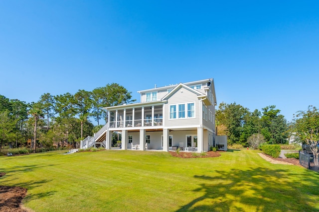
<svg viewBox="0 0 319 212"><path fill-rule="evenodd" d="M300 184L299 174L287 172L284 169L258 167L249 170L217 170L213 177L194 175L195 179L204 183L199 184L200 187L193 192L203 195L181 206L176 212L318 211L318 208L308 204L309 199L305 194L314 197L319 195L319 175L312 177L314 183ZM296 176L286 180L287 174ZM309 172L303 172L302 175L307 179ZM292 179L293 183L290 182ZM317 189L313 189L314 186Z"/></svg>

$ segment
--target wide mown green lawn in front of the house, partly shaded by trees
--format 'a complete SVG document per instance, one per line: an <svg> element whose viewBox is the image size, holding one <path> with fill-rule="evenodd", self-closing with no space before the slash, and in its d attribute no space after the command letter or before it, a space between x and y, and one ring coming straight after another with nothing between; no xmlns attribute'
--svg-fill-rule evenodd
<svg viewBox="0 0 319 212"><path fill-rule="evenodd" d="M0 185L28 189L35 212L319 211L319 174L253 150L182 159L167 152L52 151L0 157Z"/></svg>

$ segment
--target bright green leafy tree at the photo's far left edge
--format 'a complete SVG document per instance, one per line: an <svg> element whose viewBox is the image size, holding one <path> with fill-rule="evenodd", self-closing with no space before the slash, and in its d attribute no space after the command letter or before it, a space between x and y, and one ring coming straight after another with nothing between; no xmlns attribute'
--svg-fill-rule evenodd
<svg viewBox="0 0 319 212"><path fill-rule="evenodd" d="M10 118L9 111L0 111L0 150L2 144L12 138L14 126L15 122Z"/></svg>

